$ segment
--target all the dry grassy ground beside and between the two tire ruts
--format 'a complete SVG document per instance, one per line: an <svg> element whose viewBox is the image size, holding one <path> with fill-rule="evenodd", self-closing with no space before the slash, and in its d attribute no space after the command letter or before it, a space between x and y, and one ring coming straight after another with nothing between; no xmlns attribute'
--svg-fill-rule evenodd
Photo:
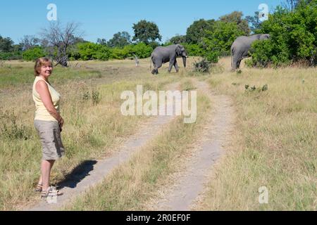
<svg viewBox="0 0 317 225"><path fill-rule="evenodd" d="M50 80L63 97L67 148L66 157L54 167L53 184L82 162L115 153L116 146L149 119L121 115L122 91L136 91L137 84L158 91L176 82L183 90L191 90L199 79L213 93L232 98L237 115L230 145L211 169L209 184L194 209L317 210L316 68L242 68L237 74L229 71L230 59L223 58L209 75L189 72L190 66L168 74L165 65L154 77L149 59L141 60L139 68L132 60L71 64L55 68ZM17 61L0 67L0 210L21 210L38 201L33 187L42 155L33 127L32 67L33 63ZM268 90L261 91L266 84ZM167 177L178 171L182 158L190 155L212 107L199 91L196 123L184 124L177 118L128 163L66 209L144 210L157 189L168 185ZM269 203L264 205L258 200L262 186L269 191Z"/></svg>

